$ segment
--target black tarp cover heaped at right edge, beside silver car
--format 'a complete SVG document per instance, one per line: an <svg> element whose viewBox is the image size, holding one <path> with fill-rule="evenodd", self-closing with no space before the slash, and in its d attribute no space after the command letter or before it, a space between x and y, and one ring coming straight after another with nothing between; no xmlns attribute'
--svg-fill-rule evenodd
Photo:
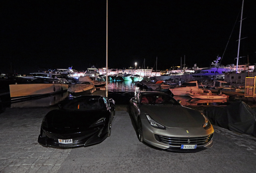
<svg viewBox="0 0 256 173"><path fill-rule="evenodd" d="M204 115L213 125L256 136L256 110L243 101L234 102L226 107L211 107Z"/></svg>

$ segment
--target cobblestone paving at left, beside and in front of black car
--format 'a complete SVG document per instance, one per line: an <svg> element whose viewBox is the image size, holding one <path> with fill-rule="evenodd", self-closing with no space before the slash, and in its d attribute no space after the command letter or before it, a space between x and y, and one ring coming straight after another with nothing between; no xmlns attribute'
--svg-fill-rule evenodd
<svg viewBox="0 0 256 173"><path fill-rule="evenodd" d="M41 121L50 109L6 109L0 114L1 173L54 173L60 169L71 149L42 147L37 142Z"/></svg>

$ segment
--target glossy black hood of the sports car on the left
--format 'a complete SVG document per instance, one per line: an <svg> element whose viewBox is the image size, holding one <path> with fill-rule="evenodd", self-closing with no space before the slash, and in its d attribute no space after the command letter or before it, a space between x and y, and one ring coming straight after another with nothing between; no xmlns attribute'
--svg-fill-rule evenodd
<svg viewBox="0 0 256 173"><path fill-rule="evenodd" d="M101 117L105 111L64 111L56 110L47 116L47 122L54 129L87 129Z"/></svg>

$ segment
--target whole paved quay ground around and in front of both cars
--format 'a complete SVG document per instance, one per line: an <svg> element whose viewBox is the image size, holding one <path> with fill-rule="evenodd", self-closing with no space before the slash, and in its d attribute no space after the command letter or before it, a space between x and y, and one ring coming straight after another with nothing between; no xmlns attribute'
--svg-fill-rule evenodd
<svg viewBox="0 0 256 173"><path fill-rule="evenodd" d="M56 107L7 108L0 113L0 173L251 173L256 137L214 126L214 146L175 153L136 137L126 107L117 107L111 136L89 147L55 149L37 143L43 117Z"/></svg>

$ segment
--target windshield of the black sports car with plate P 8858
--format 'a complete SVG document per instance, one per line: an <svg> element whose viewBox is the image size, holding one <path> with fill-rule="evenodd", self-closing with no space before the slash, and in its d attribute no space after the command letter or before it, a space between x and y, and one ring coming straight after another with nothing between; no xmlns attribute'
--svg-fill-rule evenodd
<svg viewBox="0 0 256 173"><path fill-rule="evenodd" d="M63 109L74 111L90 111L103 109L104 105L105 104L102 98L84 98L71 101L67 105L64 105Z"/></svg>

